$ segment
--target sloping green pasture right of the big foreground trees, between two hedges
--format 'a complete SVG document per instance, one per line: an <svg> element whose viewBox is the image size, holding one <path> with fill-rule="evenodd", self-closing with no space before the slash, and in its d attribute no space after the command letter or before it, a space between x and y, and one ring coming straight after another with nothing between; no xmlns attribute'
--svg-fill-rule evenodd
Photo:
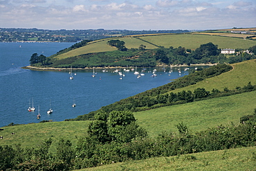
<svg viewBox="0 0 256 171"><path fill-rule="evenodd" d="M156 137L163 131L178 132L176 125L181 122L192 132L238 124L240 117L253 114L255 104L256 91L134 112L134 116L149 136Z"/></svg>

